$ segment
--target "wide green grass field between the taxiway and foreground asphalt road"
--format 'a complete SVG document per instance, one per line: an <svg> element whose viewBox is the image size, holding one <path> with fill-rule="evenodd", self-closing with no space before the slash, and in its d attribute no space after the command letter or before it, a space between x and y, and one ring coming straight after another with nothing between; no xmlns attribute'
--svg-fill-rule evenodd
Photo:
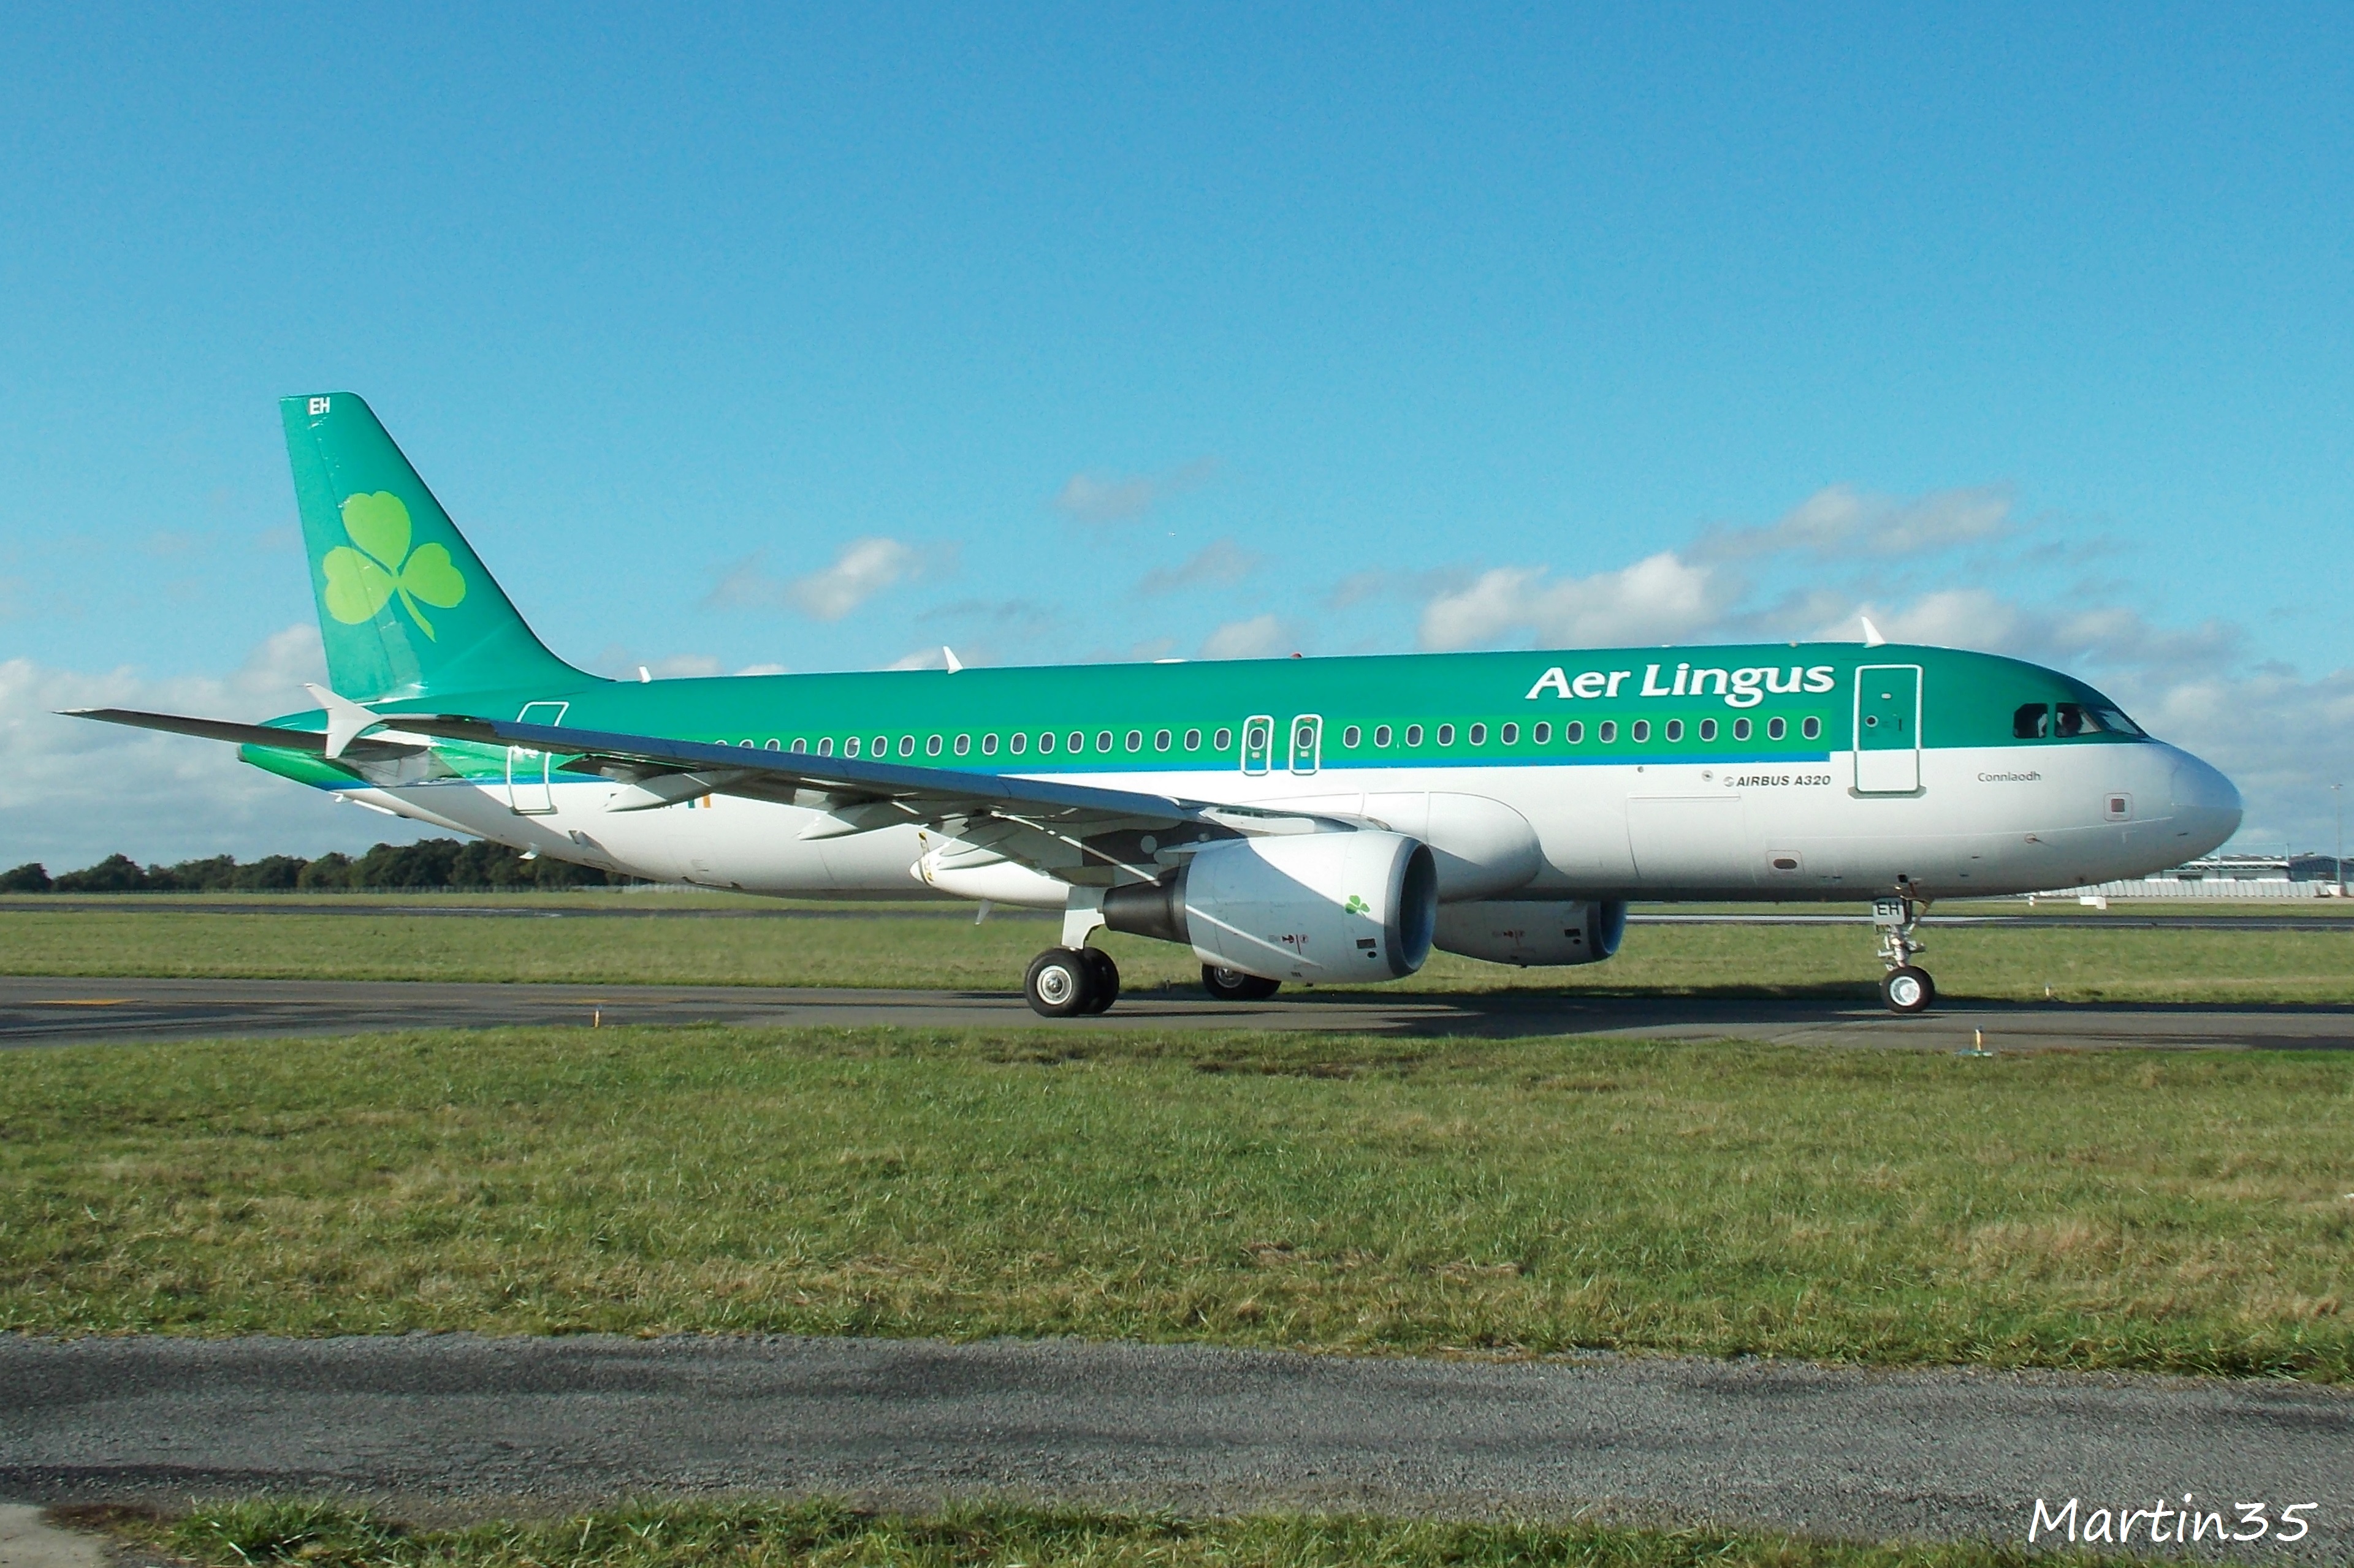
<svg viewBox="0 0 2354 1568"><path fill-rule="evenodd" d="M2354 1375L2354 1059L605 1029L0 1055L0 1328Z"/></svg>

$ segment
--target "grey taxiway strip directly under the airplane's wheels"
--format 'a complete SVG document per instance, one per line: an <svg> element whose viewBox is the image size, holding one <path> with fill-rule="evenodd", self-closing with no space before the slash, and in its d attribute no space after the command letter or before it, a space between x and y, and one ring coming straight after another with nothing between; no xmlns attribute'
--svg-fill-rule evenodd
<svg viewBox="0 0 2354 1568"><path fill-rule="evenodd" d="M1288 991L1266 1003L1139 994L1097 1019L1048 1022L996 991L454 984L405 979L0 977L0 1045L485 1029L499 1024L904 1024L998 1029L1346 1029L1408 1036L1596 1034L1921 1050L2349 1050L2354 1008L2008 1005L1893 1017L1862 1001L1452 996Z"/></svg>

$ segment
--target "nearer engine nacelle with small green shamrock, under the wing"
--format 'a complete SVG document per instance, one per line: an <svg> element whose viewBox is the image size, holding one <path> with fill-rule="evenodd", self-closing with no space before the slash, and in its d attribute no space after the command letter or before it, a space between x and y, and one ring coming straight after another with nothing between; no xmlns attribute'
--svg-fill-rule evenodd
<svg viewBox="0 0 2354 1568"><path fill-rule="evenodd" d="M1309 984L1396 979L1431 956L1438 866L1403 833L1281 833L1191 855L1104 895L1104 925L1203 963Z"/></svg>

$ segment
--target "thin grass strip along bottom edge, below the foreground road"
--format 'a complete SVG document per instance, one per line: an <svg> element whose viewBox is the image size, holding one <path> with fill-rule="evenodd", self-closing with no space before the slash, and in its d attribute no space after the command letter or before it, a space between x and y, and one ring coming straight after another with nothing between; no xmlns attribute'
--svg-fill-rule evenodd
<svg viewBox="0 0 2354 1568"><path fill-rule="evenodd" d="M82 1511L89 1516L89 1511ZM207 1568L2095 1568L2142 1556L2008 1544L1848 1544L1716 1528L1351 1516L1175 1519L975 1504L932 1516L836 1502L671 1502L440 1530L403 1530L318 1502L198 1507L179 1519L99 1514L134 1554Z"/></svg>

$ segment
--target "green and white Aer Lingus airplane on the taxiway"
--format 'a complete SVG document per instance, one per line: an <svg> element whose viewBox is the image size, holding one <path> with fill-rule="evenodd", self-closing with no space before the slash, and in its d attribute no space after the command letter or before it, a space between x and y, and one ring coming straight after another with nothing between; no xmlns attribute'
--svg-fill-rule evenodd
<svg viewBox="0 0 2354 1568"><path fill-rule="evenodd" d="M1921 911L2144 876L2232 782L2090 685L1886 643L1603 647L612 680L548 652L377 414L280 403L327 650L315 709L221 739L414 822L758 895L1062 911L1045 1017L1102 1012L1102 930L1222 1001L1431 949L1601 963L1629 899L1869 899L1881 998L1935 1001ZM984 906L986 913L986 906Z"/></svg>

